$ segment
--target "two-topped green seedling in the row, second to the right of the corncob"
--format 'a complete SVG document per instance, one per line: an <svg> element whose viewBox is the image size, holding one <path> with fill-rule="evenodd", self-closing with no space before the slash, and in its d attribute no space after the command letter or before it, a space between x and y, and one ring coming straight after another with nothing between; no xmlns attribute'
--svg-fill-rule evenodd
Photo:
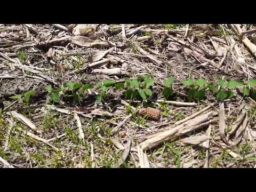
<svg viewBox="0 0 256 192"><path fill-rule="evenodd" d="M182 84L189 87L189 91L188 91L189 100L205 99L205 89L206 89L205 79L198 78L196 79L196 81L194 81L192 78L188 78L186 81L183 81Z"/></svg>

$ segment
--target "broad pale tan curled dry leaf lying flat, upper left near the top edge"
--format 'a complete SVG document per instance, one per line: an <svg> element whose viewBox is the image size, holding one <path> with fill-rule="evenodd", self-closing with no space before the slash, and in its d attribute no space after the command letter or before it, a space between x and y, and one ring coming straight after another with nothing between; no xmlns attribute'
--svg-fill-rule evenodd
<svg viewBox="0 0 256 192"><path fill-rule="evenodd" d="M103 48L103 47L110 47L111 44L108 42L101 42L99 40L92 40L89 37L83 37L83 36L75 36L71 37L70 41L72 44L82 46L82 47L98 47L98 48Z"/></svg>

